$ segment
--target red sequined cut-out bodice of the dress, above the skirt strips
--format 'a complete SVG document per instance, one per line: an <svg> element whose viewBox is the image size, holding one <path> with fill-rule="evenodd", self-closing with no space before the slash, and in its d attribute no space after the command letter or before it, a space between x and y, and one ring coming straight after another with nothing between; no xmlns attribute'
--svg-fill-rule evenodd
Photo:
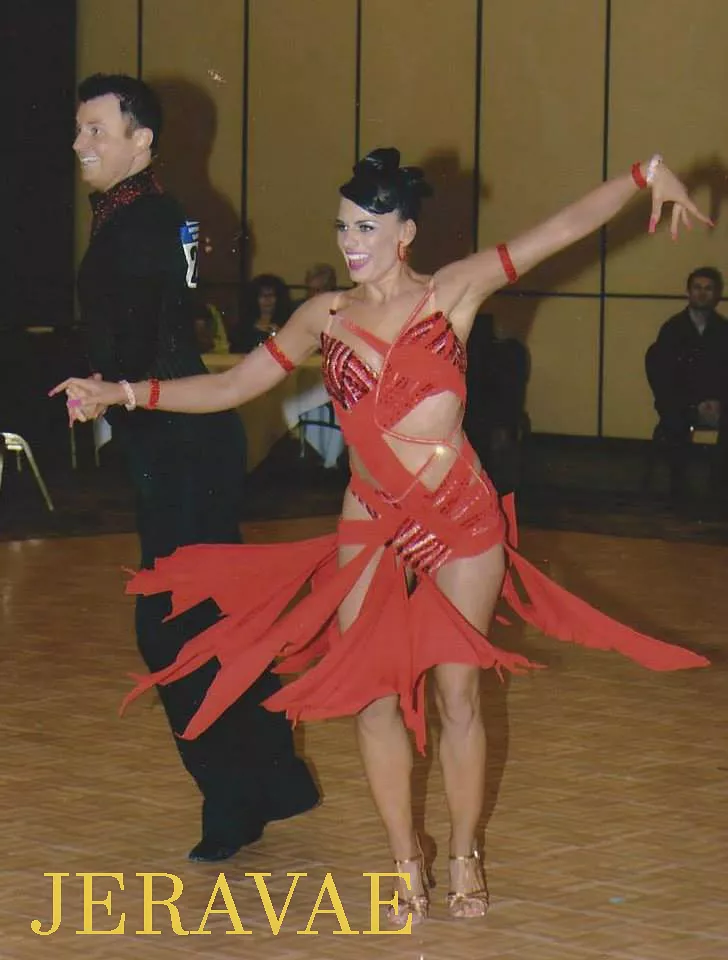
<svg viewBox="0 0 728 960"><path fill-rule="evenodd" d="M491 491L486 486L484 497L483 482L474 482L474 454L461 436L465 347L442 311L419 316L433 293L428 287L391 343L345 317L339 320L332 311L321 344L326 389L344 436L356 451L356 463L364 468L364 473L358 466L352 469L350 490L369 514L368 529L391 542L412 569L429 571L447 562L452 543L464 532L476 551L490 543L493 533L490 513L483 513L484 504L486 512L492 506ZM370 348L378 362L367 363L352 343L335 336L334 322L341 323L354 343ZM460 417L453 417L442 436L423 436L424 415L410 434L408 415L437 395L459 401ZM414 470L400 460L403 451L409 459L413 448L418 448ZM443 466L446 462L449 467ZM446 471L436 489L425 482L428 476L434 479L428 475L430 466L434 475Z"/></svg>

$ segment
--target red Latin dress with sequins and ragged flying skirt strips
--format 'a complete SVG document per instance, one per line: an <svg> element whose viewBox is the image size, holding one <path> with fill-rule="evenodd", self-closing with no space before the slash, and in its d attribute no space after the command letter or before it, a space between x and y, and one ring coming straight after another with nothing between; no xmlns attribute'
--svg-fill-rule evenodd
<svg viewBox="0 0 728 960"><path fill-rule="evenodd" d="M525 621L558 640L616 650L652 670L708 665L681 647L637 633L558 586L517 551L512 496L500 501L460 428L431 444L426 466L443 449L455 453L435 489L411 473L388 439L403 437L403 418L428 397L451 393L465 405L466 354L447 317L426 309L432 284L393 343L382 341L336 310L322 334L323 378L347 443L370 477L353 472L350 492L363 519L341 519L336 533L285 544L200 545L178 549L136 574L127 592L172 593L171 617L212 597L225 615L190 640L173 664L138 680L129 700L168 684L210 658L220 670L184 732L199 736L276 662L298 674L267 701L293 721L356 714L395 694L417 746L426 739L424 680L436 664L463 663L499 672L537 666L498 649L438 588L435 575L451 560L501 544L507 572L502 597ZM377 372L335 336L341 323L381 356ZM275 345L268 349L287 369ZM359 547L340 564L338 548ZM340 629L337 609L381 553L360 612ZM416 576L408 585L407 571ZM517 589L517 584L520 584ZM306 590L306 586L310 586Z"/></svg>

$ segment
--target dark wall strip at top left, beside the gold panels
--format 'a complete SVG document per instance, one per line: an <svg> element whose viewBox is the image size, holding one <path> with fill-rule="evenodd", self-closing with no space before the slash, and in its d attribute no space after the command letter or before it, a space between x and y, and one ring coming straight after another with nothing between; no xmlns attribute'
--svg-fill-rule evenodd
<svg viewBox="0 0 728 960"><path fill-rule="evenodd" d="M75 0L3 6L4 327L72 320L75 35Z"/></svg>

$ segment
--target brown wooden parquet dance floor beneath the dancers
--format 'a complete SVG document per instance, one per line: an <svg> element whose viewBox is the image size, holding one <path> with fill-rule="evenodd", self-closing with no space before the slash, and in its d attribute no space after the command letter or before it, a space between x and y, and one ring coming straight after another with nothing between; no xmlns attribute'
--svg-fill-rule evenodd
<svg viewBox="0 0 728 960"><path fill-rule="evenodd" d="M332 524L260 524L247 536L299 538ZM440 775L421 763L418 804L441 851L434 917L395 936L364 933L373 927L362 875L389 863L349 720L299 730L325 795L320 808L271 825L219 867L188 863L198 798L161 708L150 696L117 716L126 676L139 669L121 589L121 568L136 562L134 537L0 543L2 960L728 958L728 549L534 530L523 540L560 582L643 630L684 640L715 666L652 674L499 627L498 642L549 669L506 685L484 678L490 914L447 918ZM277 936L246 876L254 872L270 874L278 914L287 875L306 874ZM31 923L51 929L49 873L69 876L58 881L58 930L40 936ZM117 876L77 876L92 873ZM137 876L152 873L170 876ZM176 884L179 933L165 906L145 917L144 883L147 900L171 897ZM203 927L216 886L218 912ZM322 909L338 893L338 918L310 919L322 887ZM110 913L91 904L109 891ZM123 933L104 935L122 914ZM342 922L359 933L334 935ZM77 933L84 925L94 933Z"/></svg>

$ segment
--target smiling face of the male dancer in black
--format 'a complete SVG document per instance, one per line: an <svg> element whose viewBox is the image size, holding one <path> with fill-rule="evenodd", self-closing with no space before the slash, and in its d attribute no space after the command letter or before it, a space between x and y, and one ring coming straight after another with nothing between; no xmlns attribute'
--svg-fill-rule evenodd
<svg viewBox="0 0 728 960"><path fill-rule="evenodd" d="M81 176L93 189L105 193L143 170L151 159L151 131L131 130L113 93L82 103L76 114L73 149Z"/></svg>

